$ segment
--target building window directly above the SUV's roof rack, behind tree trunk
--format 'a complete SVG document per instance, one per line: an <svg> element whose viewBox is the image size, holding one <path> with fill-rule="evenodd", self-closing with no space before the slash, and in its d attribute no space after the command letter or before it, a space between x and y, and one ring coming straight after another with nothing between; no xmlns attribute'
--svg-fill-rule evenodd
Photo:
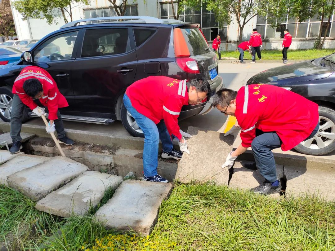
<svg viewBox="0 0 335 251"><path fill-rule="evenodd" d="M137 5L127 5L125 16L137 16ZM84 18L117 16L112 7L84 9Z"/></svg>

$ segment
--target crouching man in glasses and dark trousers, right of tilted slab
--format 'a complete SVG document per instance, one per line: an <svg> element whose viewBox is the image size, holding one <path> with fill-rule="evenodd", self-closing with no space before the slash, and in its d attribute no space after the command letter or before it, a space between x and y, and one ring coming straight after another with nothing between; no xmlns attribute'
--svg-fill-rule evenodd
<svg viewBox="0 0 335 251"><path fill-rule="evenodd" d="M230 152L222 168L231 167L237 156L251 147L265 178L252 190L279 193L281 184L271 150L281 147L288 151L313 138L319 130L318 105L284 88L262 84L243 86L239 91L222 89L215 94L213 105L226 115L236 116L241 128L242 144Z"/></svg>

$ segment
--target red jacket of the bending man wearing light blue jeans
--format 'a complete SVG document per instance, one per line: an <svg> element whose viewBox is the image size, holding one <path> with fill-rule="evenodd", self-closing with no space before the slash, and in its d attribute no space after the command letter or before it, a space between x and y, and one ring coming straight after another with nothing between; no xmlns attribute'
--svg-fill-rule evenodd
<svg viewBox="0 0 335 251"><path fill-rule="evenodd" d="M170 136L182 138L178 116L183 105L188 104L186 80L165 76L150 76L130 85L126 94L132 106L155 124L164 119Z"/></svg>

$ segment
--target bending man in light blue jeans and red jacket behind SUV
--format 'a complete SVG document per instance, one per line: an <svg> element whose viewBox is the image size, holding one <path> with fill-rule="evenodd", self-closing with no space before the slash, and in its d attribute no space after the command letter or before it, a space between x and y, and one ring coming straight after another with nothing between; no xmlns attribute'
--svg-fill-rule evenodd
<svg viewBox="0 0 335 251"><path fill-rule="evenodd" d="M167 182L157 174L158 143L163 145L162 158L181 159L182 153L190 154L184 133L178 126L178 116L183 105L200 104L207 98L210 85L204 79L191 82L164 76L150 76L136 81L126 90L123 103L144 133L143 180ZM179 140L181 152L175 150L172 137Z"/></svg>

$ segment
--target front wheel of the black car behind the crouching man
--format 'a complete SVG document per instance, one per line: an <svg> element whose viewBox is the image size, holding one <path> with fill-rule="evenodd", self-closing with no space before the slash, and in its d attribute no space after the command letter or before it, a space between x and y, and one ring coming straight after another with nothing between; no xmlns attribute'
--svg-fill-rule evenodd
<svg viewBox="0 0 335 251"><path fill-rule="evenodd" d="M308 155L326 155L335 150L335 111L326 106L319 106L319 117L319 132L309 142L304 141L294 147L294 150ZM327 138L327 134L333 139Z"/></svg>

